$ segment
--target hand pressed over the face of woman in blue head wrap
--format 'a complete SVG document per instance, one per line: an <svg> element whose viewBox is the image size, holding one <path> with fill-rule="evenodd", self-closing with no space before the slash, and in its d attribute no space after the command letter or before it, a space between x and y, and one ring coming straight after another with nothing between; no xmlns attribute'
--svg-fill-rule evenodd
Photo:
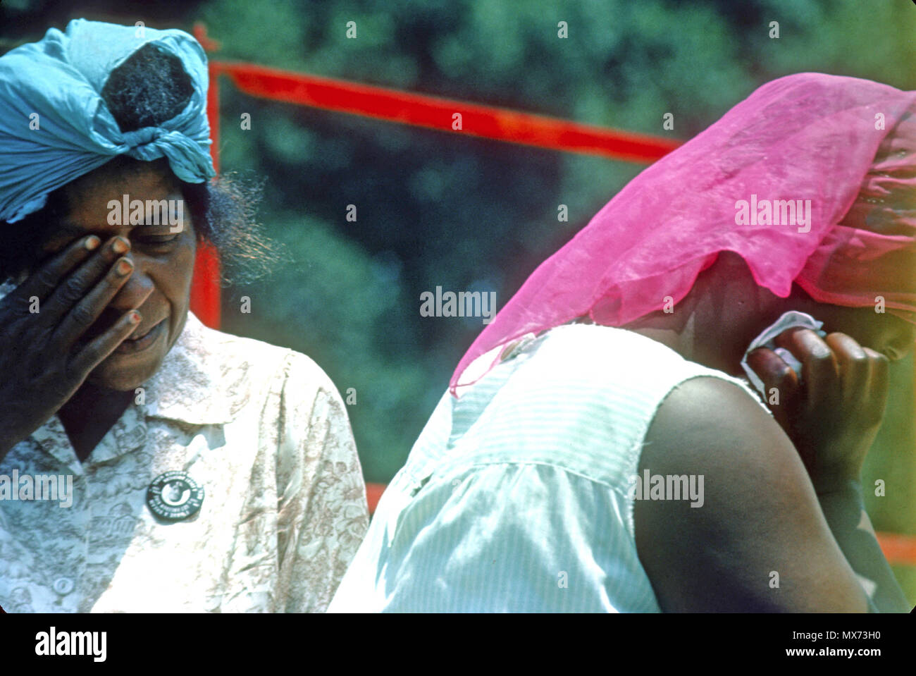
<svg viewBox="0 0 916 676"><path fill-rule="evenodd" d="M127 338L140 313L80 341L133 271L130 243L81 237L0 299L0 460L36 431ZM94 253L93 253L94 251ZM35 311L37 309L37 311Z"/></svg>

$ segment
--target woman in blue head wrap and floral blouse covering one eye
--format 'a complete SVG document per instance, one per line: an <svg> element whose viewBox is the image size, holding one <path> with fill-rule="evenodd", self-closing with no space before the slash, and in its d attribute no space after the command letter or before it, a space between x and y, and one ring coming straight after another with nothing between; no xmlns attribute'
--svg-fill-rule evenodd
<svg viewBox="0 0 916 676"><path fill-rule="evenodd" d="M81 19L0 57L7 611L323 610L365 531L321 368L189 311L197 245L269 251L212 180L206 89L180 30Z"/></svg>

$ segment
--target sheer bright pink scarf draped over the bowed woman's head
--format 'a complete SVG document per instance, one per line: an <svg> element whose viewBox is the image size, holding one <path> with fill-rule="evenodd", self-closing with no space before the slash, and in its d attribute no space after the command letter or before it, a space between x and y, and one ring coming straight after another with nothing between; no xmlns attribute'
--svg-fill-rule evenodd
<svg viewBox="0 0 916 676"><path fill-rule="evenodd" d="M464 354L453 394L493 365L462 377L477 357L526 333L579 317L623 326L681 301L726 250L781 298L793 281L834 305L876 307L882 296L911 321L914 111L916 92L856 78L800 73L761 86L542 263Z"/></svg>

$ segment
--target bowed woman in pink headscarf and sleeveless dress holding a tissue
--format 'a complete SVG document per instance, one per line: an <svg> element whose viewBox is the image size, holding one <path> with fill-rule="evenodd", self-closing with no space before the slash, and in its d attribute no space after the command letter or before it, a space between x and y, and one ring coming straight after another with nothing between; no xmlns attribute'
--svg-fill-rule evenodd
<svg viewBox="0 0 916 676"><path fill-rule="evenodd" d="M331 609L909 610L860 473L916 340L914 111L793 75L631 181L465 354Z"/></svg>

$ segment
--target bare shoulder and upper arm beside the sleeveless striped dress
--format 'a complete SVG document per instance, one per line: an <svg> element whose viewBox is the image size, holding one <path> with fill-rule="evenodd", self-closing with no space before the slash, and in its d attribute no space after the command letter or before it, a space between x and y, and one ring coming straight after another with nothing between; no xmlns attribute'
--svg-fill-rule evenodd
<svg viewBox="0 0 916 676"><path fill-rule="evenodd" d="M798 453L741 387L714 377L675 387L638 470L687 475L703 492L635 501L638 556L662 610L865 609Z"/></svg>

